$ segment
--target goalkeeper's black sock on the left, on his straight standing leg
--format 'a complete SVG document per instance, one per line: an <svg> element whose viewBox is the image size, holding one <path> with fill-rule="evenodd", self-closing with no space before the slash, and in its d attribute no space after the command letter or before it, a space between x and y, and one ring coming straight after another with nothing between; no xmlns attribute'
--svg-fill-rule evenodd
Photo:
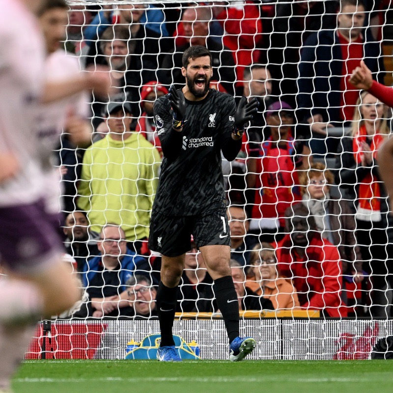
<svg viewBox="0 0 393 393"><path fill-rule="evenodd" d="M177 286L168 288L168 286L165 286L162 281L160 281L157 290L156 304L161 330L160 346L165 347L174 345L172 327L177 305Z"/></svg>

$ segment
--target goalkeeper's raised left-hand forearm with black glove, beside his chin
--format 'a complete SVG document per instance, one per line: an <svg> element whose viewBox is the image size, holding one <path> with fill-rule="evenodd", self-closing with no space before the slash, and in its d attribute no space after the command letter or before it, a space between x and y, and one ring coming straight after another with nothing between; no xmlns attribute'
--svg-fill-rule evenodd
<svg viewBox="0 0 393 393"><path fill-rule="evenodd" d="M153 115L164 157L169 161L174 161L179 157L183 146L182 131L185 122L185 101L184 108L182 108L184 112L175 112L176 106L173 106L173 91L176 91L174 94L177 94L177 99L181 95L182 97L180 99L184 100L184 95L181 91L178 92L173 87L170 88L170 91L172 93L171 96L168 96L170 104L165 99L157 100L154 103ZM169 106L172 106L173 111L170 110ZM176 109L178 110L178 108Z"/></svg>

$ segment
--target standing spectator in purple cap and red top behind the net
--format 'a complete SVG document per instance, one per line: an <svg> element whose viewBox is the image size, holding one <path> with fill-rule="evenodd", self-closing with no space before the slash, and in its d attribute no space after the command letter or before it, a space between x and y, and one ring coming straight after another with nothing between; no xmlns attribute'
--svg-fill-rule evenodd
<svg viewBox="0 0 393 393"><path fill-rule="evenodd" d="M293 109L283 101L266 112L271 136L247 160L247 185L255 190L250 232L260 241L282 238L284 212L301 199L298 171L309 167L309 147L292 136Z"/></svg>

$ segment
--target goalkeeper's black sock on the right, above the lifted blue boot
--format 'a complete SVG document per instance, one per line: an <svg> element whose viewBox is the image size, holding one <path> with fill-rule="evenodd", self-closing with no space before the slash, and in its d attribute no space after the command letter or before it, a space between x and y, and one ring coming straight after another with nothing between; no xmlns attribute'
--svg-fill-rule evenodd
<svg viewBox="0 0 393 393"><path fill-rule="evenodd" d="M216 296L217 306L223 315L229 343L239 334L239 302L231 276L214 280L213 291Z"/></svg>

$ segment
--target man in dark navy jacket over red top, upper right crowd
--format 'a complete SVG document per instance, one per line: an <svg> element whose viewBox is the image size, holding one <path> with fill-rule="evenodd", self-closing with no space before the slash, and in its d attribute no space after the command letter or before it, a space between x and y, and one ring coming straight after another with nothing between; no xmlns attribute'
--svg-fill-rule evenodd
<svg viewBox="0 0 393 393"><path fill-rule="evenodd" d="M364 32L365 6L361 0L341 0L337 29L321 30L307 39L299 65L298 108L313 136L326 138L327 127L349 124L359 93L348 77L364 58L378 81L385 68L381 46ZM338 139L323 140L328 152L336 152ZM323 154L322 146L313 152Z"/></svg>

